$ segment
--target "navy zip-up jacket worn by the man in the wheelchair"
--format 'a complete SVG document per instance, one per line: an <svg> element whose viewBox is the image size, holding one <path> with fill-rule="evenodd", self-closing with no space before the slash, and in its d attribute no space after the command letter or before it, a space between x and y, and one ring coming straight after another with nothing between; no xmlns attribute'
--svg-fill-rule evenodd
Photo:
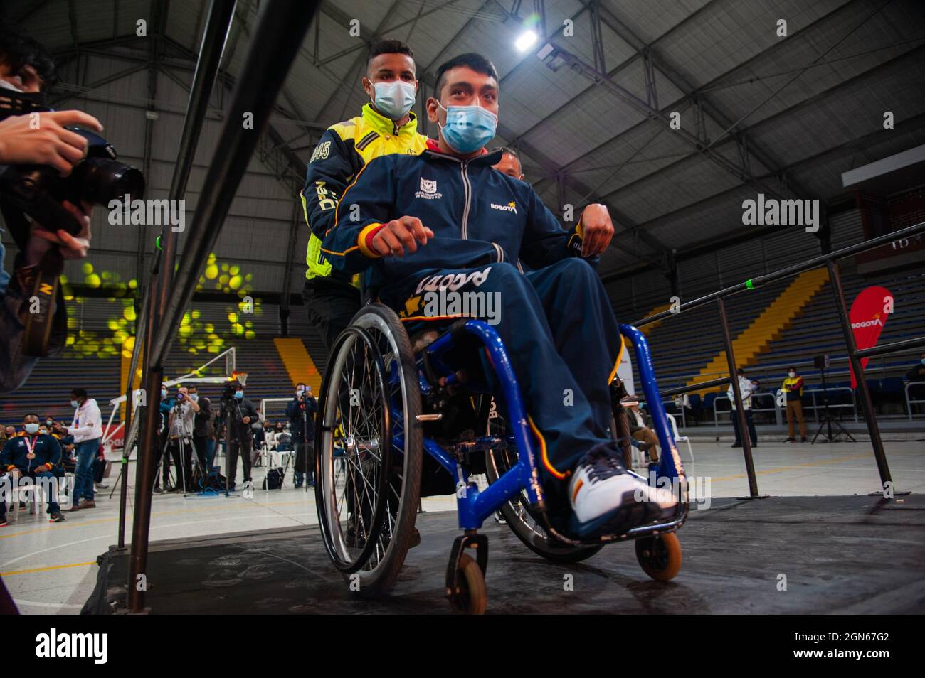
<svg viewBox="0 0 925 678"><path fill-rule="evenodd" d="M500 157L495 151L463 161L431 143L419 155L387 155L368 163L345 191L323 252L339 271L372 266L372 285L425 269L499 261L539 269L580 257L581 225L562 228L533 187L494 169ZM379 258L370 249L372 238L401 216L417 217L434 237L403 257ZM596 264L598 258L588 261Z"/></svg>

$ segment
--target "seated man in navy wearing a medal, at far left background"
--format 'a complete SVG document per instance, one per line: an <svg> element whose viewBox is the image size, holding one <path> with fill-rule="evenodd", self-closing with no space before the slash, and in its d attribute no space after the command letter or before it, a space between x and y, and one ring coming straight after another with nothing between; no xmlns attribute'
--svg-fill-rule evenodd
<svg viewBox="0 0 925 678"><path fill-rule="evenodd" d="M61 466L61 446L50 435L39 433L39 416L28 414L22 418L24 434L6 441L0 452L0 468L18 482L31 478L36 487L44 485L48 503L48 522L63 523L64 515L58 505L55 482L56 468ZM6 498L5 498L6 499ZM34 501L34 498L33 498ZM6 501L0 502L0 527L6 526Z"/></svg>

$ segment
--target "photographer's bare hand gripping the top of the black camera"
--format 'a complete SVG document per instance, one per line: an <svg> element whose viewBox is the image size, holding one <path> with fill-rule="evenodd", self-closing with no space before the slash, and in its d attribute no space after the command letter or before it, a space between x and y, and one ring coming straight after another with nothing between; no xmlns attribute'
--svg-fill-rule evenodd
<svg viewBox="0 0 925 678"><path fill-rule="evenodd" d="M11 115L0 122L0 164L47 164L68 176L86 155L87 139L65 126L103 131L100 121L83 111L51 111L38 118L38 126L33 115Z"/></svg>

